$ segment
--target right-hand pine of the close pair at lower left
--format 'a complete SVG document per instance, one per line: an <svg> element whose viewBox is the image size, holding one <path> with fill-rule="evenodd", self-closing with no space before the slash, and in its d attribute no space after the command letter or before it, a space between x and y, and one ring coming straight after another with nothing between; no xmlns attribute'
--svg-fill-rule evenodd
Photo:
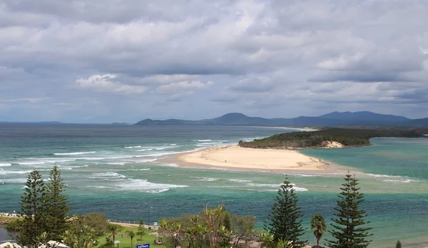
<svg viewBox="0 0 428 248"><path fill-rule="evenodd" d="M46 197L44 197L45 230L49 239L61 241L67 229L66 216L70 207L68 197L63 195L64 183L61 171L57 166L51 170L49 182L46 184Z"/></svg>

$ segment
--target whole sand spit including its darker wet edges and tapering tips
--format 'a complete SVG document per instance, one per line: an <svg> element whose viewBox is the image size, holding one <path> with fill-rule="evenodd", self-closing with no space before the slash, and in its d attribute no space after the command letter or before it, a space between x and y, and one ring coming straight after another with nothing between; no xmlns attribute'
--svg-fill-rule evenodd
<svg viewBox="0 0 428 248"><path fill-rule="evenodd" d="M180 167L292 174L345 175L355 168L310 157L298 150L241 148L225 145L170 155L160 160Z"/></svg>

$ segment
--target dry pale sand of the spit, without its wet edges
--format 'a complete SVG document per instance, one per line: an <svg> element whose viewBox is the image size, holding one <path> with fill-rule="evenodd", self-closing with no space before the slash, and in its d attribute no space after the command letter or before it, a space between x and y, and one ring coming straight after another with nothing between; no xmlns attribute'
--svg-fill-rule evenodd
<svg viewBox="0 0 428 248"><path fill-rule="evenodd" d="M207 148L180 155L178 160L213 167L250 170L325 170L325 162L296 150L241 148L238 145Z"/></svg>

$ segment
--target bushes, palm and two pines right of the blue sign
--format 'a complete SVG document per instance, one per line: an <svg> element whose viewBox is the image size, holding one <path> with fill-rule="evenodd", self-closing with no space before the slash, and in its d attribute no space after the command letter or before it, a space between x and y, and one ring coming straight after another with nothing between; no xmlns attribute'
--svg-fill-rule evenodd
<svg viewBox="0 0 428 248"><path fill-rule="evenodd" d="M371 228L365 227L370 222L365 221L367 214L360 206L364 196L359 192L358 180L348 173L341 190L329 230L333 239L326 240L327 245L332 248L367 247L372 241L367 238L372 234ZM305 232L302 217L293 185L285 177L262 232L255 230L255 217L230 215L222 203L215 208L207 205L197 215L163 219L159 234L168 247L238 247L258 240L260 247L298 248L308 244L301 239ZM327 232L325 217L320 214L311 217L310 229L317 239L316 247L320 247L322 235Z"/></svg>

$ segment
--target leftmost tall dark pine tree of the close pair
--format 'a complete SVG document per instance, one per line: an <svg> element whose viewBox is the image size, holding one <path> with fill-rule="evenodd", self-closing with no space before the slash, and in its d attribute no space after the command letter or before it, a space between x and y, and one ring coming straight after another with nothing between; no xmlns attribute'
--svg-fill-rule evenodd
<svg viewBox="0 0 428 248"><path fill-rule="evenodd" d="M21 212L19 212L24 219L19 224L16 241L21 246L31 247L36 245L36 240L44 232L43 202L46 187L37 170L30 173L25 186L24 196L21 197Z"/></svg>

